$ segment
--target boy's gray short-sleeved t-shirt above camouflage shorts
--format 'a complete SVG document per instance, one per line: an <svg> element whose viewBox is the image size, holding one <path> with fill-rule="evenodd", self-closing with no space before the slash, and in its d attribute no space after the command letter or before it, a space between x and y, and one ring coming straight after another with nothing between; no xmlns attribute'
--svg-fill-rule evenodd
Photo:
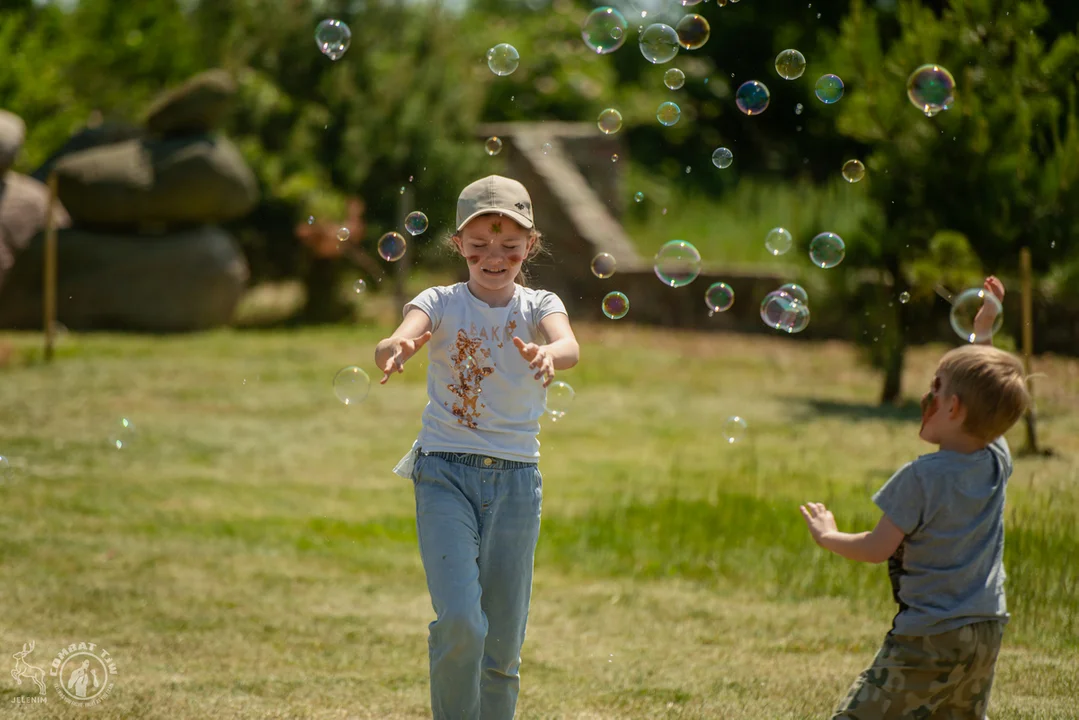
<svg viewBox="0 0 1079 720"><path fill-rule="evenodd" d="M939 635L985 620L1007 623L1000 437L971 453L941 450L899 468L873 502L906 535L888 560L897 635Z"/></svg>

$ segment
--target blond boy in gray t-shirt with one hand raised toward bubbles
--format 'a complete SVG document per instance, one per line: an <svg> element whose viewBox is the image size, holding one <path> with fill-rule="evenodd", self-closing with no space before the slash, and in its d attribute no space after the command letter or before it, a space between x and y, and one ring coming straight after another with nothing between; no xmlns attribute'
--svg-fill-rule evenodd
<svg viewBox="0 0 1079 720"><path fill-rule="evenodd" d="M1003 299L996 277L985 289ZM821 503L802 516L821 547L851 560L888 560L899 612L873 665L833 720L970 718L989 702L1009 614L1005 603L1005 488L1012 472L1002 437L1030 400L1023 366L987 347L996 305L974 320L979 344L941 358L921 398L918 436L940 450L907 463L873 502L872 532L839 532Z"/></svg>

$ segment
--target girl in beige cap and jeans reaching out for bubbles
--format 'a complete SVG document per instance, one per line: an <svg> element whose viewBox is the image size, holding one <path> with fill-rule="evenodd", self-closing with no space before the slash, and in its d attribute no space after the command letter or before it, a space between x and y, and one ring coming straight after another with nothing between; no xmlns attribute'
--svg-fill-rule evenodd
<svg viewBox="0 0 1079 720"><path fill-rule="evenodd" d="M540 418L556 370L579 350L565 307L523 281L540 249L532 200L492 175L457 199L468 282L431 287L374 349L384 384L427 341L427 406L394 468L415 489L429 625L435 720L509 720L520 688L543 478Z"/></svg>

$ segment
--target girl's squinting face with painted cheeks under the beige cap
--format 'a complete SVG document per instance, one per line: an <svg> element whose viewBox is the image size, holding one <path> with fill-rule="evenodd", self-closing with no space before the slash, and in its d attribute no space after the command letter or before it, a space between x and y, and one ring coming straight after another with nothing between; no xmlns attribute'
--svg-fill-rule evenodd
<svg viewBox="0 0 1079 720"><path fill-rule="evenodd" d="M509 287L529 257L532 231L502 215L473 218L453 242L468 262L468 275L487 290Z"/></svg>

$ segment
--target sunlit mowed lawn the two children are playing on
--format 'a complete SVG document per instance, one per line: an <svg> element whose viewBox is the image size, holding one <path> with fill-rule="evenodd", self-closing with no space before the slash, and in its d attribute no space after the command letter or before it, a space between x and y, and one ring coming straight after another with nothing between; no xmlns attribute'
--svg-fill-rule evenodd
<svg viewBox="0 0 1079 720"><path fill-rule="evenodd" d="M115 660L97 718L429 717L411 486L426 354L334 399L388 326L190 337L32 335L0 369L0 651ZM870 494L931 448L839 343L578 326L545 422L543 531L518 717L821 718L890 626L884 566L817 548L797 505L872 527ZM1036 370L1042 443L1009 488L1013 620L991 716L1079 717L1079 363ZM375 378L377 379L377 378ZM723 424L739 415L743 441ZM137 432L109 446L121 418ZM1022 429L1009 435L1022 446ZM14 661L8 661L9 667ZM83 717L0 679L0 717Z"/></svg>

